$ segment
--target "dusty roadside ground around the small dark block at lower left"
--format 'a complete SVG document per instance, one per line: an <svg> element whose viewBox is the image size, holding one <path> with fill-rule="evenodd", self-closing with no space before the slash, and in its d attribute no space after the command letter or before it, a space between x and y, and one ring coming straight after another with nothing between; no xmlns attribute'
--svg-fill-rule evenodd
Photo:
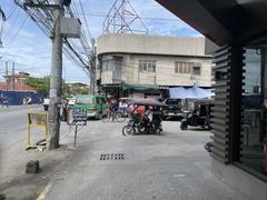
<svg viewBox="0 0 267 200"><path fill-rule="evenodd" d="M48 184L51 177L72 156L72 150L62 146L56 151L26 151L26 130L18 132L23 136L19 142L6 149L0 149L0 194L7 199L37 199ZM36 131L36 133L40 133ZM61 139L70 134L63 126ZM37 174L26 174L26 164L30 160L39 160L41 171Z"/></svg>

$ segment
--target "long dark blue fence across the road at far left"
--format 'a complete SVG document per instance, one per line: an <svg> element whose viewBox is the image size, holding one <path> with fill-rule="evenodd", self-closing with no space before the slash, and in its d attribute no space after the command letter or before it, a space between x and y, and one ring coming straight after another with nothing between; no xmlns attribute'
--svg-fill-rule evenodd
<svg viewBox="0 0 267 200"><path fill-rule="evenodd" d="M34 92L27 91L2 91L0 90L0 104L2 104L2 97L7 96L9 99L9 104L22 104L23 98L31 97L32 103L39 103L42 96Z"/></svg>

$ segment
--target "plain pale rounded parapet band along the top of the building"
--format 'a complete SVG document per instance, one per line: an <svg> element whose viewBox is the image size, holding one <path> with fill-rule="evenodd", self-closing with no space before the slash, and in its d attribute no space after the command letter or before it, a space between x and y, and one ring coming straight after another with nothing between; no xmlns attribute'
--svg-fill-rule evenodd
<svg viewBox="0 0 267 200"><path fill-rule="evenodd" d="M144 53L205 57L204 37L110 33L97 41L97 53Z"/></svg>

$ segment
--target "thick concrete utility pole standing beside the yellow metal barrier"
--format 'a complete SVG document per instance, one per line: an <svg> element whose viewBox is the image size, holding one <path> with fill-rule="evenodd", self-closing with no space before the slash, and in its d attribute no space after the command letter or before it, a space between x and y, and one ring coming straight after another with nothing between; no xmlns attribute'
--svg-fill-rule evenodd
<svg viewBox="0 0 267 200"><path fill-rule="evenodd" d="M58 6L53 10L53 32L52 32L52 63L50 72L50 92L49 92L49 136L47 148L49 150L59 147L60 138L60 104L61 104L61 84L62 84L62 36L61 18L63 17L63 0L55 0Z"/></svg>

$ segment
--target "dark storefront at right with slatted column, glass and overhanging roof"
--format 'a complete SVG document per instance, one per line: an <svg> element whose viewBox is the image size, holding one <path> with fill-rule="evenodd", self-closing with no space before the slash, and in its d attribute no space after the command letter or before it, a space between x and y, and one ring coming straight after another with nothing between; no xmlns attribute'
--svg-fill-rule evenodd
<svg viewBox="0 0 267 200"><path fill-rule="evenodd" d="M267 1L157 1L218 46L212 172L249 199L266 200Z"/></svg>

